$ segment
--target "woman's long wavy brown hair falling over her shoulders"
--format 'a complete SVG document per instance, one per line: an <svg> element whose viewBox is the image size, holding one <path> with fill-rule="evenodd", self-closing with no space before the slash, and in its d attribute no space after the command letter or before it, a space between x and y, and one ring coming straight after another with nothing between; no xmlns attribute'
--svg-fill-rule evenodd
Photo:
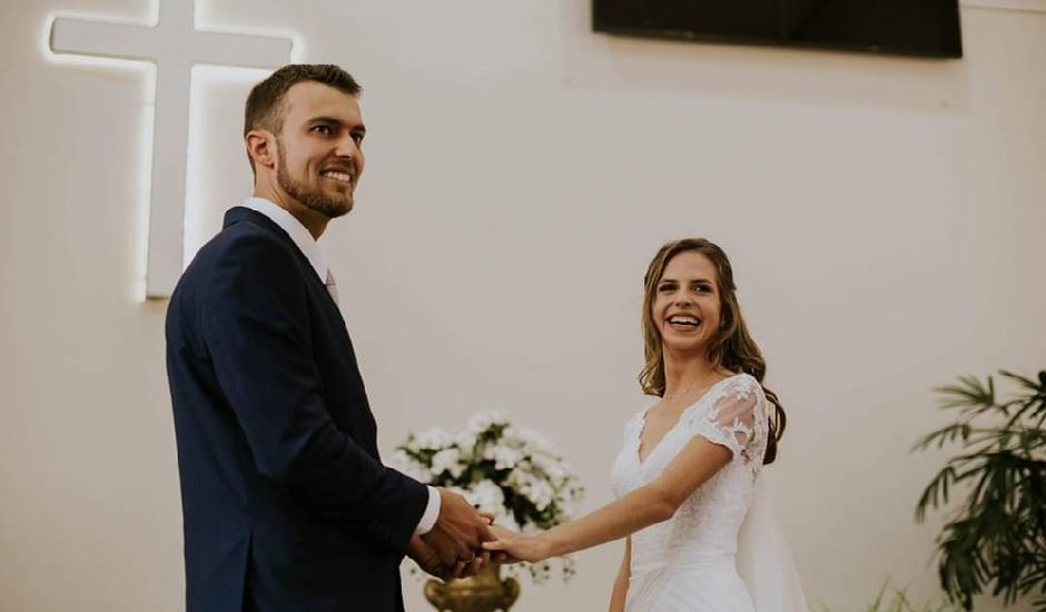
<svg viewBox="0 0 1046 612"><path fill-rule="evenodd" d="M718 245L704 238L683 238L673 240L661 247L661 250L650 261L647 267L647 276L643 277L643 348L647 355L647 364L639 374L639 384L643 387L647 395L664 395L664 354L661 346L661 334L654 324L651 314L654 297L658 292L658 283L664 274L664 267L669 261L684 251L697 251L709 258L716 266L720 296L720 319L719 330L712 337L708 345L708 358L712 364L722 366L730 372L740 374L750 374L759 384L767 399L773 404L773 414L770 419L770 437L767 440L767 454L763 455L763 463L773 463L777 458L777 443L784 434L787 423L784 407L776 393L762 384L767 374L767 362L762 358L762 352L752 336L748 333L748 326L741 316L741 306L738 303L737 286L733 284L733 268L730 266L730 259Z"/></svg>

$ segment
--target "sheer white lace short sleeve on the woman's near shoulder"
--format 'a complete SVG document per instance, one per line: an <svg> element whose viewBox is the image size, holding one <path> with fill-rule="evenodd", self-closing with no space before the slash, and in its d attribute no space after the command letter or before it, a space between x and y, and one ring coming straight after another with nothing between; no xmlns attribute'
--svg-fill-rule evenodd
<svg viewBox="0 0 1046 612"><path fill-rule="evenodd" d="M747 450L756 437L760 412L759 382L751 376L736 376L716 392L712 405L698 402L682 415L690 435L726 446L734 456L748 458Z"/></svg>

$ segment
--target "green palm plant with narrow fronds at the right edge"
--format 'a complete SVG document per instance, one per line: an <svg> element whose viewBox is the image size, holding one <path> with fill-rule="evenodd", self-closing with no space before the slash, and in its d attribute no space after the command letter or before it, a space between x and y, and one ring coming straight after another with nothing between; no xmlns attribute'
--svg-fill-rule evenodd
<svg viewBox="0 0 1046 612"><path fill-rule="evenodd" d="M995 381L964 376L936 389L956 419L916 450L958 445L959 454L926 486L916 521L948 506L937 537L940 583L948 598L973 610L974 595L990 592L1010 605L1033 594L1046 611L1046 371L1037 379L999 374L1016 387L996 395Z"/></svg>

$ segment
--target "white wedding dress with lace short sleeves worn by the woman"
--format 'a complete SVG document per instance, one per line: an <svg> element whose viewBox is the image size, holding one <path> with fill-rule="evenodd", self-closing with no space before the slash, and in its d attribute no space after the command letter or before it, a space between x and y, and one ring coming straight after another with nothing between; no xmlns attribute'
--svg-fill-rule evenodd
<svg viewBox="0 0 1046 612"><path fill-rule="evenodd" d="M672 519L632 534L628 612L808 612L768 492L757 486L771 407L752 376L720 381L642 462L647 411L625 424L612 472L619 497L653 482L694 436L733 454Z"/></svg>

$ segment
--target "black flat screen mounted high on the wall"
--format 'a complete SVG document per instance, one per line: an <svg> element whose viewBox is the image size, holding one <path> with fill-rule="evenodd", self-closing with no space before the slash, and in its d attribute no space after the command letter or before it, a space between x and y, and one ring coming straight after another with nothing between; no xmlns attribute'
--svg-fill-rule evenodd
<svg viewBox="0 0 1046 612"><path fill-rule="evenodd" d="M592 0L598 32L963 57L958 0Z"/></svg>

